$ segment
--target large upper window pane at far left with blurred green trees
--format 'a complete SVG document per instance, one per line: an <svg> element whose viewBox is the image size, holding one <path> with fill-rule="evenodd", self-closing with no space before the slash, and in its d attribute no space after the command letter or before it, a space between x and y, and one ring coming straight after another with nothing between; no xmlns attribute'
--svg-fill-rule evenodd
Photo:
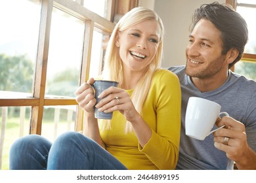
<svg viewBox="0 0 256 183"><path fill-rule="evenodd" d="M0 1L0 90L32 94L40 1Z"/></svg>

